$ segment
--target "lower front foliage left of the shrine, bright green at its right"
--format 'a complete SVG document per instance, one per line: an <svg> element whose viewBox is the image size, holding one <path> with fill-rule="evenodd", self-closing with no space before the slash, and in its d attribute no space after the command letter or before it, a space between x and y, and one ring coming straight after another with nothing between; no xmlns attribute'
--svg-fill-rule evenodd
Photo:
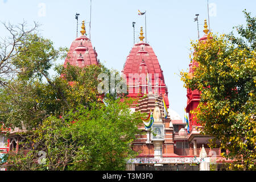
<svg viewBox="0 0 256 182"><path fill-rule="evenodd" d="M139 113L129 103L80 105L65 117L48 117L26 135L24 151L9 154L10 170L123 170L137 155L130 146L139 134ZM31 145L32 143L32 145Z"/></svg>

